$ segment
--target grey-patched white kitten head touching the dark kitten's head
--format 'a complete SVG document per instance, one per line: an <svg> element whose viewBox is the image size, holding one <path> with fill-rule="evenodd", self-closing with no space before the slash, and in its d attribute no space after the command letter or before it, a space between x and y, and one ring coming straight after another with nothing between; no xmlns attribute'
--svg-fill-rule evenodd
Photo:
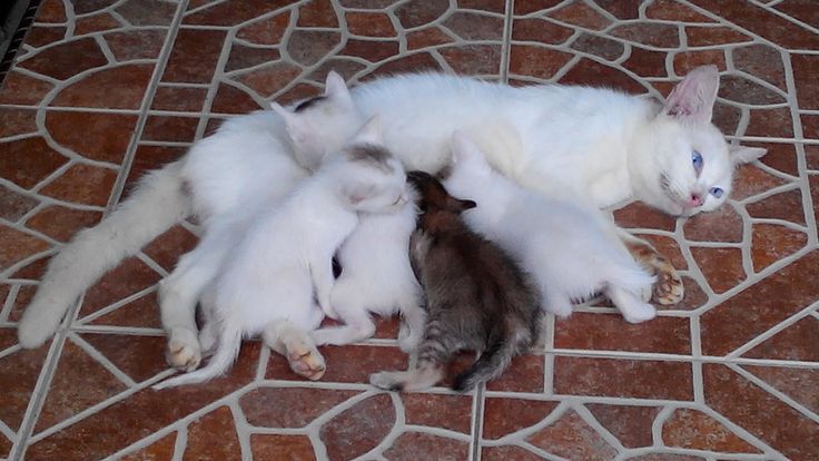
<svg viewBox="0 0 819 461"><path fill-rule="evenodd" d="M404 166L384 147L377 116L325 163L338 166L338 192L352 209L396 213L407 204Z"/></svg>

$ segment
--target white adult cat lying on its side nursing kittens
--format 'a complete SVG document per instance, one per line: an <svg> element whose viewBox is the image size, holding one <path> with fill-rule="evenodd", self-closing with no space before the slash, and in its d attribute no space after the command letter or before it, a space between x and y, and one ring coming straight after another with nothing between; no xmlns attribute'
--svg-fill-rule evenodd
<svg viewBox="0 0 819 461"><path fill-rule="evenodd" d="M714 67L694 69L662 108L606 89L512 88L438 75L375 80L357 87L352 99L338 99L354 102L365 116L383 112L385 143L410 168L436 171L446 165L452 133L462 129L487 153L490 164L529 188L564 187L598 206L633 196L677 215L717 207L730 193L733 165L764 153L729 150L709 122L718 84ZM272 112L237 117L229 128L226 124L186 158L148 176L115 213L78 234L52 258L20 323L21 345L42 344L85 288L175 223L196 214L207 226L211 217L238 209L243 200L277 183L280 173L266 159L272 153L289 151L282 144L280 118ZM510 133L519 133L520 143L516 136L504 136ZM257 141L251 149L243 148L246 137ZM302 165L324 155L314 154L299 158ZM697 203L702 204L691 206ZM631 245L637 257L663 271L663 281L677 282L659 285L672 286L663 288L660 300L679 301L681 283L673 268L657 265L649 244L631 241ZM191 278L175 271L164 288L181 300L161 306L164 326L170 332L170 362L177 366L198 362L198 342L190 336L196 337L193 312L200 283L189 283ZM168 314L169 310L177 312Z"/></svg>

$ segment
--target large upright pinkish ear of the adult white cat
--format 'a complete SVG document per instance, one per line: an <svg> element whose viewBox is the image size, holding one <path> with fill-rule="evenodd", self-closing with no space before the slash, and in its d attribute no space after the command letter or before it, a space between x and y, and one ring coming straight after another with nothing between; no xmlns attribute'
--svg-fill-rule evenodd
<svg viewBox="0 0 819 461"><path fill-rule="evenodd" d="M694 125L708 124L719 88L717 66L700 66L671 90L662 108L663 114Z"/></svg>

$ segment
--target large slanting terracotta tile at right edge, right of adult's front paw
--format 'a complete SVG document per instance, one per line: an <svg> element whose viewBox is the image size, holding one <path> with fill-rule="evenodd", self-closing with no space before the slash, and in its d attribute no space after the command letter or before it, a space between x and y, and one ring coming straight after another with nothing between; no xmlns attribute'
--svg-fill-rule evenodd
<svg viewBox="0 0 819 461"><path fill-rule="evenodd" d="M702 353L724 355L796 314L819 297L805 278L819 263L811 252L702 315Z"/></svg>

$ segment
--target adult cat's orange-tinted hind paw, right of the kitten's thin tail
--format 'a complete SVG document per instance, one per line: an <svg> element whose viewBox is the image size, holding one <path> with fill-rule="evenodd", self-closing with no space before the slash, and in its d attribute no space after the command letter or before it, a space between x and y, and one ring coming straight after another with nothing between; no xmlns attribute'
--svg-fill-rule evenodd
<svg viewBox="0 0 819 461"><path fill-rule="evenodd" d="M324 356L310 335L288 321L270 322L262 333L268 347L287 359L290 370L310 381L320 380L327 371Z"/></svg>

